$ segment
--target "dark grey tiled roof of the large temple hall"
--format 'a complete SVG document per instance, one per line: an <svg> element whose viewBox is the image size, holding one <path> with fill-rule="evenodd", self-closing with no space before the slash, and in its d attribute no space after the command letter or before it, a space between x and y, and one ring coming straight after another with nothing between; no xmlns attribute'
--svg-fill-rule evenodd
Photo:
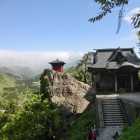
<svg viewBox="0 0 140 140"><path fill-rule="evenodd" d="M119 69L123 66L140 68L140 59L132 48L98 49L92 69Z"/></svg>

